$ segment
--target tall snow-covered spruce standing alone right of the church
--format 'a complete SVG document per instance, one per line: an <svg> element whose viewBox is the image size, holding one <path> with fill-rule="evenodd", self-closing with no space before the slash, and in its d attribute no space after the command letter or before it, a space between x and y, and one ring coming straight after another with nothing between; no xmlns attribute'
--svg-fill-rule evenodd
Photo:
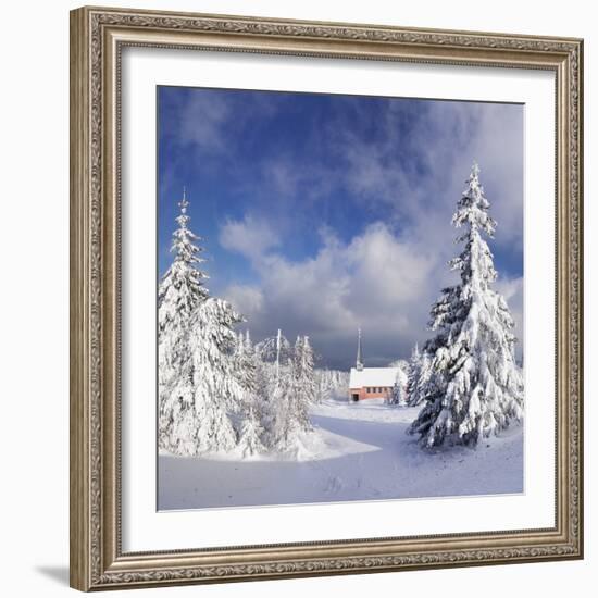
<svg viewBox="0 0 598 598"><path fill-rule="evenodd" d="M464 233L461 254L450 262L460 284L445 288L432 308L436 336L425 406L411 424L424 446L453 437L463 444L498 433L523 416L523 381L515 363L514 323L503 297L491 289L497 273L483 235L493 237L496 223L474 163L468 187L452 217Z"/></svg>

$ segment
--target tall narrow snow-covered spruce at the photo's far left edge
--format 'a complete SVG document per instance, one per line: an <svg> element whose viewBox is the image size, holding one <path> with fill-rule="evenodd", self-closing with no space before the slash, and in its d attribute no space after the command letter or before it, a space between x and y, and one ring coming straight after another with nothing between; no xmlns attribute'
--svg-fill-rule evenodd
<svg viewBox="0 0 598 598"><path fill-rule="evenodd" d="M178 228L173 234L171 251L174 260L160 282L158 289L158 361L159 361L159 445L169 445L175 437L175 419L183 416L177 399L171 400L170 393L183 377L183 362L188 354L187 329L194 310L208 297L203 286L208 277L198 265L202 249L196 245L199 237L189 229L189 202L185 190L178 203L180 212L176 217ZM175 447L176 449L176 447Z"/></svg>

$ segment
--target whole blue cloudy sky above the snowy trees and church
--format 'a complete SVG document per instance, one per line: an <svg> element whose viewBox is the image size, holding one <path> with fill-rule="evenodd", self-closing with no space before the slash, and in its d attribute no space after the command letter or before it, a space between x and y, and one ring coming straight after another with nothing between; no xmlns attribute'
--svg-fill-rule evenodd
<svg viewBox="0 0 598 598"><path fill-rule="evenodd" d="M520 104L159 87L159 274L183 186L214 296L254 340L308 334L321 364L367 365L429 337L456 281L451 214L472 161L498 221L501 290L523 337Z"/></svg>

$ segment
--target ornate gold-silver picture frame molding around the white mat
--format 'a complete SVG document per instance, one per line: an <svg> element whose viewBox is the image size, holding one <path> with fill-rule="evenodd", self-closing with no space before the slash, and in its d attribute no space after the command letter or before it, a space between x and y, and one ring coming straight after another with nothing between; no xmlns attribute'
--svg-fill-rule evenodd
<svg viewBox="0 0 598 598"><path fill-rule="evenodd" d="M546 530L124 553L120 60L126 46L556 76L557 488ZM71 13L71 585L82 590L583 558L583 40L140 10Z"/></svg>

